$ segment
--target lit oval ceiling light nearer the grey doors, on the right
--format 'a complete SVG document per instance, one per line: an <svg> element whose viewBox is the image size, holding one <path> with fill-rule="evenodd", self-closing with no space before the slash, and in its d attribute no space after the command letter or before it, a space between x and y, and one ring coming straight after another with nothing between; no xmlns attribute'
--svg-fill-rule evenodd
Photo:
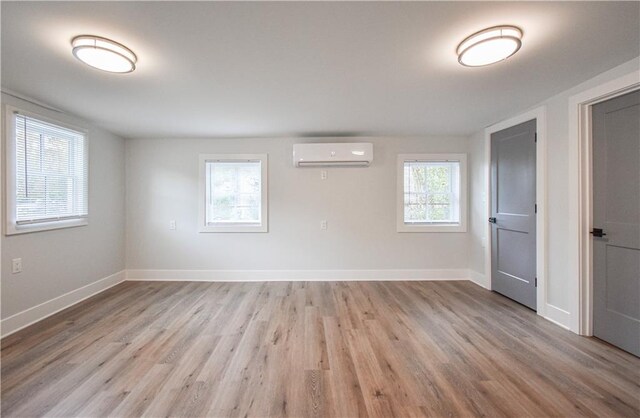
<svg viewBox="0 0 640 418"><path fill-rule="evenodd" d="M476 32L458 45L458 62L482 67L506 60L522 46L522 30L515 26L494 26Z"/></svg>

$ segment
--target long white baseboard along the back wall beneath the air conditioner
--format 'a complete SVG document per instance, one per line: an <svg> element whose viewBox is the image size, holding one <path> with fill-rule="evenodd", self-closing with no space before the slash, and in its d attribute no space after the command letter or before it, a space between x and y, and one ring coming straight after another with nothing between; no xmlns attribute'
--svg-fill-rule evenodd
<svg viewBox="0 0 640 418"><path fill-rule="evenodd" d="M444 270L127 270L135 281L394 281L469 280L467 269Z"/></svg>

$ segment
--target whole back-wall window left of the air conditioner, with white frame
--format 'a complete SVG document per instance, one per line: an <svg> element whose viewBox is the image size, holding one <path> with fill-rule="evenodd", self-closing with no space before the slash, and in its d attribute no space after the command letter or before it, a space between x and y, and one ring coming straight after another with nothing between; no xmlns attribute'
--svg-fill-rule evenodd
<svg viewBox="0 0 640 418"><path fill-rule="evenodd" d="M267 232L267 155L200 156L200 232Z"/></svg>

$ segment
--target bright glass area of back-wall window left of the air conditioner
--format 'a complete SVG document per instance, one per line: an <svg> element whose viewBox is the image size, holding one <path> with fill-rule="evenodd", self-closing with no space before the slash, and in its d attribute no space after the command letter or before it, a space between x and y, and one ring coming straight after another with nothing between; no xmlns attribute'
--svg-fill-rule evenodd
<svg viewBox="0 0 640 418"><path fill-rule="evenodd" d="M261 222L261 162L216 161L207 164L206 222Z"/></svg>

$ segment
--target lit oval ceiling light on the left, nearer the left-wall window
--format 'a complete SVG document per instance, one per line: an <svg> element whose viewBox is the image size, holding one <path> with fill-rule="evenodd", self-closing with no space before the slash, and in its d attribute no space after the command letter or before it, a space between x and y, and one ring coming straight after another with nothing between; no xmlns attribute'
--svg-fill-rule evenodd
<svg viewBox="0 0 640 418"><path fill-rule="evenodd" d="M130 73L138 58L126 46L101 36L80 35L71 40L73 56L85 64L110 73Z"/></svg>

